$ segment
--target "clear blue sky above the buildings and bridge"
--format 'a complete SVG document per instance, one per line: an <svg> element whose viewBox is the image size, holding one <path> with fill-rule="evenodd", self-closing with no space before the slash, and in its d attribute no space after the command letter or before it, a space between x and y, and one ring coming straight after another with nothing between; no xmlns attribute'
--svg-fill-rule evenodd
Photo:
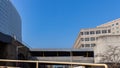
<svg viewBox="0 0 120 68"><path fill-rule="evenodd" d="M33 48L72 48L81 28L120 17L120 0L11 0Z"/></svg>

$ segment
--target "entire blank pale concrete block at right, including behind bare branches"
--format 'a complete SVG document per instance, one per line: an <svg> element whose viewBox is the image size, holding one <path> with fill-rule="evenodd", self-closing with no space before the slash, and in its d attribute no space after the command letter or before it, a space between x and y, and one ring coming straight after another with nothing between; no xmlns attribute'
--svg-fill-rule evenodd
<svg viewBox="0 0 120 68"><path fill-rule="evenodd" d="M112 55L108 55L110 57L109 61L111 61L111 57L115 56L113 61L111 62L117 62L119 60L119 49L120 49L120 35L104 35L99 36L97 41L97 46L94 47L94 62L95 63L103 63L102 59L104 58L102 55L108 55L107 53L113 53ZM110 48L112 47L112 48ZM115 49L117 47L117 49ZM114 51L114 52L113 52ZM118 57L116 57L116 55ZM106 59L107 60L107 59ZM105 61L104 61L105 62ZM108 62L108 60L106 61Z"/></svg>

